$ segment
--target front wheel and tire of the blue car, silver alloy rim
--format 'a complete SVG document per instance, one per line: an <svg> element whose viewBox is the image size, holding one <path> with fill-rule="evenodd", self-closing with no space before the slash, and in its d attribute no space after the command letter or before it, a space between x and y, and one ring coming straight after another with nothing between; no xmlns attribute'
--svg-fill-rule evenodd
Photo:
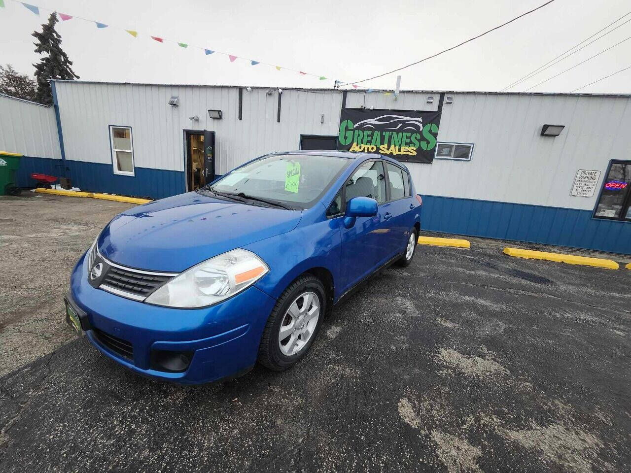
<svg viewBox="0 0 631 473"><path fill-rule="evenodd" d="M298 363L309 351L320 331L322 318L324 318L326 313L326 301L324 284L317 277L308 274L300 276L293 281L276 301L276 305L274 305L268 322L263 329L261 344L259 345L259 363L273 371L283 371ZM292 307L294 303L296 305ZM305 308L305 304L309 304L309 307ZM314 308L316 304L317 320L312 322L313 318L315 318L313 314L315 313ZM297 312L302 314L302 316L295 317ZM311 318L307 320L308 317ZM304 329L300 327L301 323ZM309 326L309 324L312 325ZM290 333L282 340L280 339L281 328L283 329L283 335ZM305 336L305 330L309 332L308 337ZM298 335L295 335L296 333ZM295 353L292 353L290 347L290 344L293 342L292 336L295 337ZM306 341L303 340L301 342L300 336L306 337Z"/></svg>

